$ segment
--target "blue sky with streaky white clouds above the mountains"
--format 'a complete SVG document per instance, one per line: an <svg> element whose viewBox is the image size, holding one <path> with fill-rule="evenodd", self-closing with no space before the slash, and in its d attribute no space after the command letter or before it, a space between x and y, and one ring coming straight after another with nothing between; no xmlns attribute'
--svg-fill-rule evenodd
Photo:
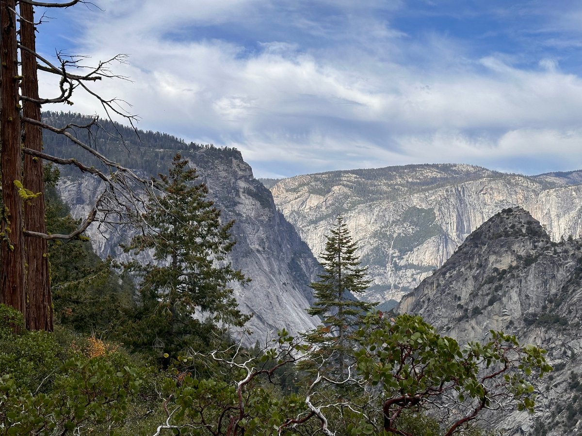
<svg viewBox="0 0 582 436"><path fill-rule="evenodd" d="M579 1L93 0L46 15L43 55L127 54L111 70L128 80L95 91L143 130L236 147L255 177L582 169ZM103 115L73 102L44 109Z"/></svg>

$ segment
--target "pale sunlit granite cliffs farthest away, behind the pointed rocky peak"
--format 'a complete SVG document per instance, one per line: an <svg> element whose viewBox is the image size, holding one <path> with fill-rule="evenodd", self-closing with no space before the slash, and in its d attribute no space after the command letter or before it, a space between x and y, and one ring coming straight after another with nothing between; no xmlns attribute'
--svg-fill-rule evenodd
<svg viewBox="0 0 582 436"><path fill-rule="evenodd" d="M581 171L537 177L470 165L408 165L288 178L275 204L313 253L321 253L333 217L345 216L368 266L365 299L400 299L489 217L523 206L552 239L582 235Z"/></svg>

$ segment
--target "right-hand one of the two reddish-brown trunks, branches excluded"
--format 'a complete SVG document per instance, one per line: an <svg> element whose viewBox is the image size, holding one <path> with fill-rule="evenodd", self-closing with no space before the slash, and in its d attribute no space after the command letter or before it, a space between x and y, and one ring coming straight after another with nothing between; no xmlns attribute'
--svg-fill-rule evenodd
<svg viewBox="0 0 582 436"><path fill-rule="evenodd" d="M29 3L20 3L20 44L36 51L34 31L34 9ZM22 94L38 99L38 76L36 57L21 50ZM25 118L40 121L40 105L23 101ZM42 151L42 129L40 126L24 123L23 144L35 151ZM26 230L47 233L44 203L44 176L42 160L24 155L24 187L34 193L42 192L37 198L24 202L24 222ZM48 267L48 244L44 238L26 237L26 263L28 265L27 316L26 328L29 330L52 331L51 278Z"/></svg>

